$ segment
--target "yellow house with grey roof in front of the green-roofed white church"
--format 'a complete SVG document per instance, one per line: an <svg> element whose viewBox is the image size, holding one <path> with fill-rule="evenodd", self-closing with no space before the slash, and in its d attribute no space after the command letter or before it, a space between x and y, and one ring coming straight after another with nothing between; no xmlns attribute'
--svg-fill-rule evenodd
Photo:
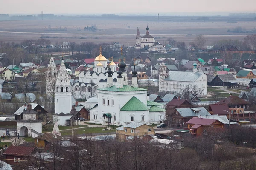
<svg viewBox="0 0 256 170"><path fill-rule="evenodd" d="M156 138L154 135L153 127L137 122L132 122L116 129L116 138L122 141L134 140L135 138L151 140Z"/></svg>

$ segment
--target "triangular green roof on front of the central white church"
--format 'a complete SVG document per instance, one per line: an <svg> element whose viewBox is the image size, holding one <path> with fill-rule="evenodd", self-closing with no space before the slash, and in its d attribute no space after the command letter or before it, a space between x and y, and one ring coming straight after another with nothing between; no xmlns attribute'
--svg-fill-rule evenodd
<svg viewBox="0 0 256 170"><path fill-rule="evenodd" d="M132 97L120 111L147 111L150 110L143 102L136 97Z"/></svg>

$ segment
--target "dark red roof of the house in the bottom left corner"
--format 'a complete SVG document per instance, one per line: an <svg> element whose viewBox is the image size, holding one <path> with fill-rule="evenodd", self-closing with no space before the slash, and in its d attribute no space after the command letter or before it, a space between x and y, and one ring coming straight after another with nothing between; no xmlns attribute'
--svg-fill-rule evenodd
<svg viewBox="0 0 256 170"><path fill-rule="evenodd" d="M28 156L34 150L34 147L26 147L26 146L9 146L4 155L15 155L15 156Z"/></svg>

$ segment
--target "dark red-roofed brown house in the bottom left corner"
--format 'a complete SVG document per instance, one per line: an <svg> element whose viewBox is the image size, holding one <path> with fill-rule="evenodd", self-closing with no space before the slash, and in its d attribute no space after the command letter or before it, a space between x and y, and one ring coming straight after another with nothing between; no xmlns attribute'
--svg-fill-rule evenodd
<svg viewBox="0 0 256 170"><path fill-rule="evenodd" d="M6 163L10 165L21 165L23 161L28 161L28 157L33 153L34 147L9 146L3 153Z"/></svg>

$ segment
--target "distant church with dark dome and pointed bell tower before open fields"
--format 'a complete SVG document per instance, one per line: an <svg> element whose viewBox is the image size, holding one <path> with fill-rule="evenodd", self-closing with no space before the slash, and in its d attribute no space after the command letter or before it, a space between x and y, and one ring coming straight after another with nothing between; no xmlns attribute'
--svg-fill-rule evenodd
<svg viewBox="0 0 256 170"><path fill-rule="evenodd" d="M142 49L146 46L151 47L156 45L154 37L149 34L149 28L146 28L146 34L143 37L140 37L139 27L137 28L136 40L135 40L135 49Z"/></svg>

